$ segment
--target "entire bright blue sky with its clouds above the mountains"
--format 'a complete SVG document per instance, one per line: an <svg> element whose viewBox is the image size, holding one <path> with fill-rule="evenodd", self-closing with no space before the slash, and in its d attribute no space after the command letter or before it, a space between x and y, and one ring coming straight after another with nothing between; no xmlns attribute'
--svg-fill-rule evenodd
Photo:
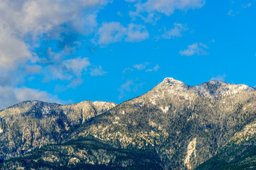
<svg viewBox="0 0 256 170"><path fill-rule="evenodd" d="M255 0L0 0L0 108L122 103L174 77L256 85Z"/></svg>

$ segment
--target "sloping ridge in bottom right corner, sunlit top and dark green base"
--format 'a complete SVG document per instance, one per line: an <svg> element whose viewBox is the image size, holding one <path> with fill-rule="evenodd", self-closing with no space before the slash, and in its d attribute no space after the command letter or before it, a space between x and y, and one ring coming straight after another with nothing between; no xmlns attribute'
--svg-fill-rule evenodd
<svg viewBox="0 0 256 170"><path fill-rule="evenodd" d="M256 169L256 121L240 132L218 150L214 157L197 167L203 169Z"/></svg>

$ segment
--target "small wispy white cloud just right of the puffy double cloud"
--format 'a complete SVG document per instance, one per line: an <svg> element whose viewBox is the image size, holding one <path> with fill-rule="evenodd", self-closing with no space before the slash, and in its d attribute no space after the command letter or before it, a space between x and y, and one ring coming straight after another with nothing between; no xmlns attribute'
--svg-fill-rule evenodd
<svg viewBox="0 0 256 170"><path fill-rule="evenodd" d="M181 38L184 31L188 30L187 26L182 23L174 23L174 28L171 30L165 30L165 33L161 35L161 38Z"/></svg>

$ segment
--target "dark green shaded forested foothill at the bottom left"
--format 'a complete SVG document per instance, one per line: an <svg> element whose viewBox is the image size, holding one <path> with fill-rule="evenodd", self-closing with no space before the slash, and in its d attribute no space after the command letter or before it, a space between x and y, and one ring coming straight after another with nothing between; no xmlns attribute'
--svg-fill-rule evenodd
<svg viewBox="0 0 256 170"><path fill-rule="evenodd" d="M73 149L72 153L67 151L67 148ZM75 152L86 151L86 159L95 159L95 164L88 164ZM105 157L110 157L111 160L107 164L102 164L104 157L100 157L102 152ZM59 161L46 162L43 157L55 155ZM81 160L80 163L75 165L68 165L68 161L72 157L77 157ZM9 167L19 167L25 169L161 169L160 159L156 153L151 150L137 150L137 149L118 149L107 145L94 137L79 138L77 140L70 140L63 145L48 145L38 149L34 152L28 153L20 158L10 159L0 164L1 169L9 169Z"/></svg>

